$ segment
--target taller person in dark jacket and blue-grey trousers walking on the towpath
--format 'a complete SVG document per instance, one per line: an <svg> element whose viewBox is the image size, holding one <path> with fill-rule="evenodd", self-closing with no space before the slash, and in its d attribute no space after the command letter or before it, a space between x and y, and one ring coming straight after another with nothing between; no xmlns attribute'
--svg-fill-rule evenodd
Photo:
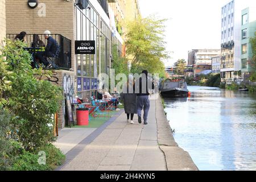
<svg viewBox="0 0 256 182"><path fill-rule="evenodd" d="M150 84L150 85L148 85ZM149 89L154 89L154 82L150 78L148 78L148 72L146 70L142 71L142 77L137 80L135 84L138 88L136 89L137 93L137 113L138 113L138 122L141 123L141 113L142 109L144 110L143 120L144 125L147 125L147 116L148 111L150 109L150 100L148 96L150 93L148 92ZM150 88L151 86L151 88Z"/></svg>

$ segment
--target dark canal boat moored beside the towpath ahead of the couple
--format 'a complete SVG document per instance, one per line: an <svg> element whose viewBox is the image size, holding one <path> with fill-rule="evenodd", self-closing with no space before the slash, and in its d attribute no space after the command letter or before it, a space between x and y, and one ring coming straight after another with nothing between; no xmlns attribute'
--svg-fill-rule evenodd
<svg viewBox="0 0 256 182"><path fill-rule="evenodd" d="M167 78L163 81L160 94L163 97L176 97L189 95L189 90L187 89L187 82L183 78Z"/></svg>

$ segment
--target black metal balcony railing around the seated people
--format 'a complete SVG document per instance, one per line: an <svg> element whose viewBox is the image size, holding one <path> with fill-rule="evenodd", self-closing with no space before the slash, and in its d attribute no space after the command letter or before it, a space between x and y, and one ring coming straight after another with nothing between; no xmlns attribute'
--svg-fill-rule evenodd
<svg viewBox="0 0 256 182"><path fill-rule="evenodd" d="M12 41L15 40L17 34L6 34L6 38ZM71 40L60 34L50 34L57 42L57 51L53 57L47 57L47 60L52 61L56 67L52 69L71 69ZM44 52L47 46L47 39L44 34L26 34L21 40L27 44L26 50L33 56L33 61L36 63L35 55L39 52Z"/></svg>

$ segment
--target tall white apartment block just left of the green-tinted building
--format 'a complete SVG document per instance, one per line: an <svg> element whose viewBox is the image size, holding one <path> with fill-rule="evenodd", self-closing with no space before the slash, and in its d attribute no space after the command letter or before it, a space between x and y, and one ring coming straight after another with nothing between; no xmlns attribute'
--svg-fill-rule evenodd
<svg viewBox="0 0 256 182"><path fill-rule="evenodd" d="M221 8L221 81L241 79L241 11L253 0L233 0Z"/></svg>

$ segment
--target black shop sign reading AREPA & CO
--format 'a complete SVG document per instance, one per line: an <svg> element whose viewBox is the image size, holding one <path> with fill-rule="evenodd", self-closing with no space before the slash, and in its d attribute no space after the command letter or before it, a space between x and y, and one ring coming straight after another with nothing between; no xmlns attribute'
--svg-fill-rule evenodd
<svg viewBox="0 0 256 182"><path fill-rule="evenodd" d="M95 40L75 40L76 55L94 55Z"/></svg>

